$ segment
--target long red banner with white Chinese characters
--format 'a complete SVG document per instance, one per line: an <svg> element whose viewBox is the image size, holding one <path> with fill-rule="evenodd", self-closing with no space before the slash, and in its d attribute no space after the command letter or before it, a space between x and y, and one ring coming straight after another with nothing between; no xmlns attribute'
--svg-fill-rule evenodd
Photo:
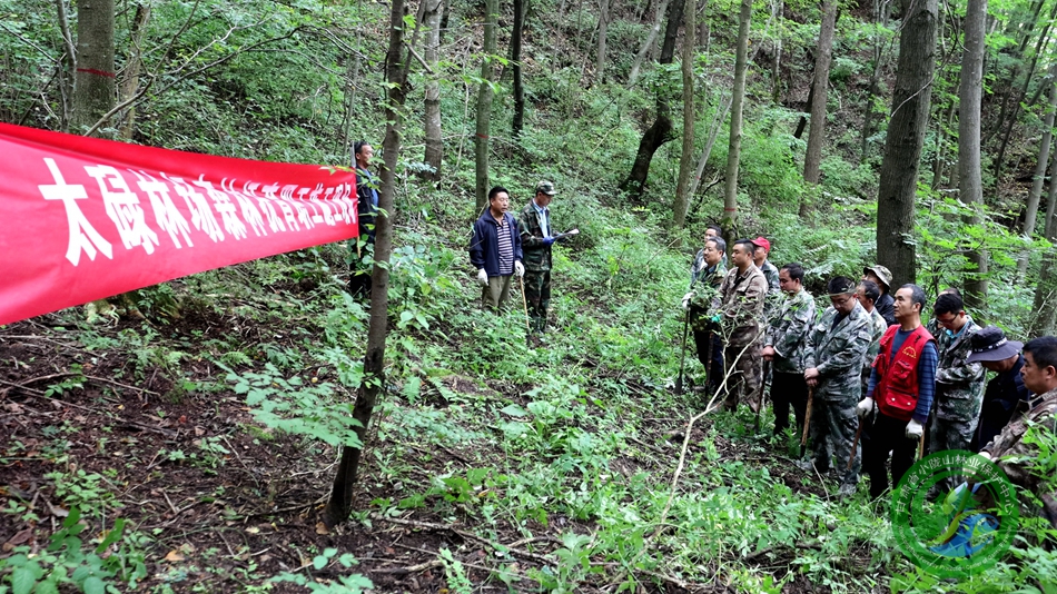
<svg viewBox="0 0 1057 594"><path fill-rule="evenodd" d="M0 123L0 324L358 235L356 176Z"/></svg>

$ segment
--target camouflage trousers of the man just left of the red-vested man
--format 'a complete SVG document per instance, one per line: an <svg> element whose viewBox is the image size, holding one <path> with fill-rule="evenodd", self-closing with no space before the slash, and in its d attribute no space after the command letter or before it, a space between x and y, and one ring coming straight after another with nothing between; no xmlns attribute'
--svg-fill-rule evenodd
<svg viewBox="0 0 1057 594"><path fill-rule="evenodd" d="M852 462L851 468L848 468L848 459L851 458L851 444L856 439L856 430L859 429L859 418L856 416L858 400L856 396L834 400L816 397L811 400L811 427L808 429L808 435L811 437L811 454L814 458L814 466L820 473L828 469L830 467L830 453L832 452L832 466L837 471L841 484L859 484L862 451L858 444L856 445L855 462Z"/></svg>

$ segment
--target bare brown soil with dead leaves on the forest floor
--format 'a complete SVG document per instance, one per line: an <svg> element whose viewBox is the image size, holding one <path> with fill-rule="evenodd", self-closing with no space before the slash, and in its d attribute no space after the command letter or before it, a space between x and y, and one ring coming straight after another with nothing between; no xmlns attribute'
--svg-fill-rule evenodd
<svg viewBox="0 0 1057 594"><path fill-rule="evenodd" d="M132 565L141 562L140 591L303 592L293 582L269 584L267 578L288 574L327 583L350 571L369 577L379 592L445 592L460 584L473 584L475 591L526 591L540 583L537 575L530 577L533 572L553 571L555 552L575 550L565 535L600 529L594 521L564 514L478 525L473 499L496 496L480 482L467 501L462 501L467 494L437 493L427 498L446 498L451 505L379 508L372 502L401 501L435 485L438 477L508 464L501 447L438 446L397 435L387 426L393 420L381 418L381 435L375 432L362 472L365 488L355 505L367 512L327 532L317 516L328 496L336 449L258 424L245 398L224 389L224 373L204 347L233 336L261 344L293 328L194 313L165 325L69 327L78 315L71 310L0 327L3 554L17 546L41 553L78 506L86 534L97 539L119 517L141 536L101 554L120 554ZM182 352L181 382L197 389L179 389L164 358L145 356L142 345L130 348L130 337L142 336L149 327L155 338L150 348ZM445 379L454 393L522 407L531 399L502 383L492 390L475 379ZM202 389L210 385L220 388ZM442 412L451 406L443 398L425 404ZM707 440L710 423L707 418L693 428L691 456ZM668 461L679 455L681 430L674 419L643 419L631 447L612 461L610 471L629 477L656 472L656 481L669 481L664 474ZM762 435L751 438L757 444L751 449L717 437L715 454L770 467L773 478L791 491L826 497ZM381 472L382 466L402 471ZM661 547L650 554L666 553ZM771 571L776 581L786 577L781 592L829 591L802 575L789 580L796 553L768 547L742 561L760 572ZM350 571L339 563L344 554L358 562ZM862 562L868 563L869 553L865 555ZM602 591L625 568L600 558L584 563L579 592ZM721 573L707 582L664 571L636 571L635 577L640 592L744 590Z"/></svg>

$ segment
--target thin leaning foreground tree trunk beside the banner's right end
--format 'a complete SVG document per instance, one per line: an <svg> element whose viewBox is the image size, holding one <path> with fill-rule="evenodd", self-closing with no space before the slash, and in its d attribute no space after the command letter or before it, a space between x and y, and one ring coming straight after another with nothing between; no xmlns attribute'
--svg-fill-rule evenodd
<svg viewBox="0 0 1057 594"><path fill-rule="evenodd" d="M336 526L348 518L353 511L353 488L356 486L359 461L367 447L367 428L374 413L378 393L385 386L385 338L388 325L389 255L393 251L393 217L396 211L393 196L396 194L396 162L401 151L401 122L404 98L407 95L404 69L404 0L392 0L389 16L389 47L385 59L387 101L385 107L385 138L382 140L382 172L378 208L375 220L374 269L371 275L371 321L367 328L367 353L364 355L364 378L353 407L354 430L362 446L343 447L337 475L330 491L330 501L323 511L322 521L327 527Z"/></svg>

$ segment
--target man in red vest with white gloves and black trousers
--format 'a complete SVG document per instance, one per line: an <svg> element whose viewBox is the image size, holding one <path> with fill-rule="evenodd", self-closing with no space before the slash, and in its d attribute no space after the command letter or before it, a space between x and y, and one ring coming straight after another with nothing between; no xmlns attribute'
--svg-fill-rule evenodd
<svg viewBox="0 0 1057 594"><path fill-rule="evenodd" d="M936 393L939 355L936 340L921 325L925 291L917 285L903 285L896 291L893 313L899 324L889 326L881 337L881 350L873 360L866 398L856 407L860 423L873 412L877 417L863 432L863 471L870 476L870 498L878 498L913 465L915 448L920 449L925 424ZM888 482L888 453L892 454L891 483Z"/></svg>

